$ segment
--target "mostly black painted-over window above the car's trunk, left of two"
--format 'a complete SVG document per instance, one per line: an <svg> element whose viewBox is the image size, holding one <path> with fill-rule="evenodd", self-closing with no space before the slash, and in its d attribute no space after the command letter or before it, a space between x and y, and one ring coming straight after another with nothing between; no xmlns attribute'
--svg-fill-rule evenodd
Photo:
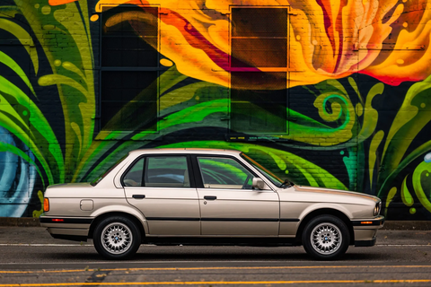
<svg viewBox="0 0 431 287"><path fill-rule="evenodd" d="M103 9L102 130L157 130L157 15L153 7Z"/></svg>

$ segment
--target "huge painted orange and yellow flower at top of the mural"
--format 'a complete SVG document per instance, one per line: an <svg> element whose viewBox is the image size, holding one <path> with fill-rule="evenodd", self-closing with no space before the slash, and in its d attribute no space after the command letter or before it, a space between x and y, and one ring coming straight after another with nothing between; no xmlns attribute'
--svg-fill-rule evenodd
<svg viewBox="0 0 431 287"><path fill-rule="evenodd" d="M112 3L148 5L144 0L101 0L96 11ZM161 7L161 43L154 48L172 59L180 73L211 83L229 86L230 7L235 4L289 7L288 63L278 70L288 71L290 87L354 73L396 85L423 80L431 71L431 10L426 0L159 0L151 4ZM125 19L139 26L132 14L112 17L106 24ZM145 22L145 17L139 19ZM235 57L253 66L245 52ZM245 88L247 79L237 84ZM260 83L259 89L270 88L278 87Z"/></svg>

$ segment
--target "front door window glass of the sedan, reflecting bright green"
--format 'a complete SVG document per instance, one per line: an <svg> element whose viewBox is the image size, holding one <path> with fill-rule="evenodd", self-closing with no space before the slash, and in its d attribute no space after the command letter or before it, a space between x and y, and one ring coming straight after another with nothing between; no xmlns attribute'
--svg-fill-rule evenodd
<svg viewBox="0 0 431 287"><path fill-rule="evenodd" d="M206 188L251 189L253 175L238 161L198 157L198 163Z"/></svg>

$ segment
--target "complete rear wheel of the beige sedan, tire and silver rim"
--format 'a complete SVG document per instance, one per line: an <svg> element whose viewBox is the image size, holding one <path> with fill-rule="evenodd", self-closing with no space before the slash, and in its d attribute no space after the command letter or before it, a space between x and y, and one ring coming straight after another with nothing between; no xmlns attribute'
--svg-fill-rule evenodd
<svg viewBox="0 0 431 287"><path fill-rule="evenodd" d="M128 259L141 245L141 233L126 217L111 216L99 222L92 241L97 252L107 259Z"/></svg>

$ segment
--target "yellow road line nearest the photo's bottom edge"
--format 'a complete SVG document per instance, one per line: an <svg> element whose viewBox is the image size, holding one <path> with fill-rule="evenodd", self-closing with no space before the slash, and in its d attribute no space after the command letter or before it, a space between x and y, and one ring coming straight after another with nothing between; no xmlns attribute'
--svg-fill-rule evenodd
<svg viewBox="0 0 431 287"><path fill-rule="evenodd" d="M0 287L48 287L48 286L118 286L118 285L236 285L236 284L321 284L321 283L431 283L431 279L411 280L296 280L296 281L198 281L198 282L119 282L119 283L22 283L0 284Z"/></svg>

